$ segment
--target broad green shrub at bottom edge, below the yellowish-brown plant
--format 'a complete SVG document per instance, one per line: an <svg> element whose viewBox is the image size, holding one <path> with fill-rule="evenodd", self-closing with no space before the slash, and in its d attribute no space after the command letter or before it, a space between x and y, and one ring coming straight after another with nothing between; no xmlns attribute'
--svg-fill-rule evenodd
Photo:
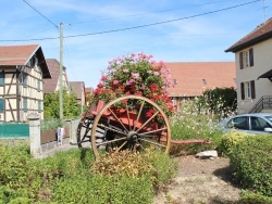
<svg viewBox="0 0 272 204"><path fill-rule="evenodd" d="M69 196L67 196L69 195ZM153 187L148 176L124 177L90 174L58 180L52 202L61 203L152 203Z"/></svg>

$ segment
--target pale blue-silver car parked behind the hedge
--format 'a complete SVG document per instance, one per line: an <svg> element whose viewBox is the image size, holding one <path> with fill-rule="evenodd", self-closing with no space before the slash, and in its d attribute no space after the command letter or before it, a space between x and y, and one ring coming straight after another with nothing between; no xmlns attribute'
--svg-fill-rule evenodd
<svg viewBox="0 0 272 204"><path fill-rule="evenodd" d="M235 130L246 133L272 133L272 113L239 114L225 118L218 124L224 132Z"/></svg>

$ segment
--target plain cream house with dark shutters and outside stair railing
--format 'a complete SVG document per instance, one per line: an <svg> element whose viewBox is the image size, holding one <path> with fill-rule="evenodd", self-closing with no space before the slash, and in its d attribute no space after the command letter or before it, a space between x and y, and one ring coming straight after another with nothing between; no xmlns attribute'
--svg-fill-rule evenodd
<svg viewBox="0 0 272 204"><path fill-rule="evenodd" d="M238 113L267 112L272 103L272 18L225 52L235 53Z"/></svg>

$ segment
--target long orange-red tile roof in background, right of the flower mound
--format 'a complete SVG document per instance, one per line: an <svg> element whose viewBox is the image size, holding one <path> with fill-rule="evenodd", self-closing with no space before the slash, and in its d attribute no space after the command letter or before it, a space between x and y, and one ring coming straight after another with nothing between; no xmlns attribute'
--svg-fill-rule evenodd
<svg viewBox="0 0 272 204"><path fill-rule="evenodd" d="M165 63L176 85L169 89L170 97L198 97L206 89L236 88L234 62Z"/></svg>

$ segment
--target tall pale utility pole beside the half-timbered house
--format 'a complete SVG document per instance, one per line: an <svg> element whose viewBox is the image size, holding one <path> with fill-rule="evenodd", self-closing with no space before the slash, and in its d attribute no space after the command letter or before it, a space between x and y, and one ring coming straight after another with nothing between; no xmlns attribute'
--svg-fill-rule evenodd
<svg viewBox="0 0 272 204"><path fill-rule="evenodd" d="M60 120L63 120L63 24L60 23L60 79L59 79L59 100L60 100Z"/></svg>

